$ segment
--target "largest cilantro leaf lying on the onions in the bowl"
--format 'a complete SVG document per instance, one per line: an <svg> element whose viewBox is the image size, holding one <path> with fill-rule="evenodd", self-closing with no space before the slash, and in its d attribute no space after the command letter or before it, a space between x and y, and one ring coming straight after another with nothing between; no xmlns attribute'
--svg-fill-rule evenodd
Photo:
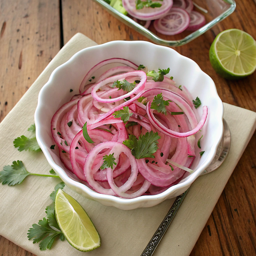
<svg viewBox="0 0 256 256"><path fill-rule="evenodd" d="M151 157L155 158L153 153L158 149L158 141L161 137L157 132L146 132L144 135L140 135L138 139L134 135L129 135L129 140L123 142L123 144L131 149L132 155L137 158Z"/></svg>

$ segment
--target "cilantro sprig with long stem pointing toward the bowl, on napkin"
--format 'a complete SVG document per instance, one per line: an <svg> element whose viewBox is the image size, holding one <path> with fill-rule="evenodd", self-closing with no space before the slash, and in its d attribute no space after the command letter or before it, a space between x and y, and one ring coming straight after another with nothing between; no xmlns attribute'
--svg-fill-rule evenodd
<svg viewBox="0 0 256 256"><path fill-rule="evenodd" d="M13 161L12 165L4 166L3 170L0 172L0 182L2 182L3 185L8 184L8 186L14 186L22 183L28 175L59 177L58 175L30 173L26 170L23 162L18 160L17 162Z"/></svg>

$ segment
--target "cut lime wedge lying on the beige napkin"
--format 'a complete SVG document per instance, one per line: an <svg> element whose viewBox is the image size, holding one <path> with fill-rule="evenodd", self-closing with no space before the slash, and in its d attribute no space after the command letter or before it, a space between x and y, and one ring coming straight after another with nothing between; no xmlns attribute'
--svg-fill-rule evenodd
<svg viewBox="0 0 256 256"><path fill-rule="evenodd" d="M100 247L100 235L82 206L60 188L55 197L55 213L67 241L79 251Z"/></svg>

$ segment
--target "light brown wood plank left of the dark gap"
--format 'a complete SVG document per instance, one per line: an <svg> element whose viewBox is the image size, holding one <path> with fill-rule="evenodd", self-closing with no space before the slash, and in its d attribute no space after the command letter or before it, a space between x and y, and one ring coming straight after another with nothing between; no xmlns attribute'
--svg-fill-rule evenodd
<svg viewBox="0 0 256 256"><path fill-rule="evenodd" d="M0 0L0 122L60 49L58 0ZM0 237L0 255L33 254Z"/></svg>

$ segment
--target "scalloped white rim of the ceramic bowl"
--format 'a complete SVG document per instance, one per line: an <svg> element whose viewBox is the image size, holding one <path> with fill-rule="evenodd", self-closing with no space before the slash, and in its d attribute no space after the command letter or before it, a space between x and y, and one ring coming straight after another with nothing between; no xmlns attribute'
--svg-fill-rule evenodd
<svg viewBox="0 0 256 256"><path fill-rule="evenodd" d="M43 108L43 102L44 99L42 98L42 94L43 91L46 89L47 86L49 86L51 84L51 81L53 79L53 77L55 76L56 72L60 69L62 69L63 67L70 65L72 62L76 61L76 58L83 53L84 51L87 51L88 49L97 49L99 47L102 46L111 46L112 44L145 44L145 45L154 45L154 47L159 47L159 48L163 48L163 50L169 50L169 51L173 51L173 54L177 54L179 55L180 58L186 59L186 61L190 61L193 62L194 65L196 65L199 68L199 72L202 73L204 76L207 76L209 80L211 80L211 82L214 84L215 87L215 92L216 95L214 95L213 97L217 97L218 101L220 101L219 103L222 105L221 110L222 112L219 114L219 120L216 120L219 123L222 123L223 120L223 114L224 114L224 107L223 107L223 103L221 101L221 99L219 98L219 95L217 93L217 89L215 86L214 81L212 80L212 78L207 75L205 72L203 72L199 65L192 59L185 57L181 54L179 54L177 51L175 51L172 48L166 47L166 46L160 46L160 45L155 45L151 42L147 42L147 41L110 41L110 42L106 42L104 44L101 45L96 45L96 46L91 46L91 47L87 47L84 48L80 51L78 51L76 54L74 54L68 61L66 61L65 63L63 63L62 65L58 66L50 75L50 78L48 80L48 82L41 88L39 95L38 95L38 105L35 111L35 125L36 125L36 138L38 141L38 144L42 150L42 152L44 153L48 163L50 164L50 166L56 171L56 173L60 176L60 178L63 180L63 182L65 182L68 186L72 186L72 187L76 187L78 189L83 190L86 194L88 194L91 198L93 198L94 200L98 201L98 200L105 200L108 202L113 202L119 205L130 205L130 204L136 204L136 203L142 203L145 201L159 201L162 202L170 197L168 197L170 194L174 193L176 190L178 189L182 189L185 187L189 187L195 180L196 178L210 165L210 163L212 162L212 160L215 157L215 154L217 152L217 147L221 141L222 138L222 134L223 134L223 123L221 126L221 129L219 131L219 136L217 138L217 140L215 141L215 143L212 145L211 149L210 149L210 154L207 158L207 160L191 175L189 175L189 177L182 183L178 183L170 188L168 188L167 190L165 190L164 192L158 194L158 195L148 195L148 196L140 196L140 197L136 197L133 199L125 199L125 198L121 198L121 197L115 197L115 196L110 196L110 195L105 195L105 194L100 194L97 193L95 191L93 191L92 189L90 189L89 187L87 187L86 185L79 183L73 179L71 179L67 173L65 172L65 170L60 167L59 165L57 165L54 161L54 159L52 158L50 152L48 151L46 145L44 144L43 140L41 139L40 133L41 131L41 127L40 127L40 120L38 119L38 113L42 110ZM142 206L143 207L143 206Z"/></svg>

